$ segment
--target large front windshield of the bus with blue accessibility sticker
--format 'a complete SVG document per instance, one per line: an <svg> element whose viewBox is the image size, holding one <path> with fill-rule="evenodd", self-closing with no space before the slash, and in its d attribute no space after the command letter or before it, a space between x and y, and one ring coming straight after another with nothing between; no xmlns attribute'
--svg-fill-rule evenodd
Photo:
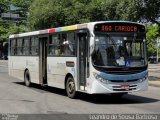
<svg viewBox="0 0 160 120"><path fill-rule="evenodd" d="M147 64L145 54L142 36L97 34L92 61L96 66L139 67Z"/></svg>

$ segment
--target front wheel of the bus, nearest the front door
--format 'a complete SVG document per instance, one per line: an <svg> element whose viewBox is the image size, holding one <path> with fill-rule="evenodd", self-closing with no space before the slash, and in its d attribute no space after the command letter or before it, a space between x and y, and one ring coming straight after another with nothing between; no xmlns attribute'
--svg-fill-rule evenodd
<svg viewBox="0 0 160 120"><path fill-rule="evenodd" d="M69 98L74 99L76 96L76 88L73 77L68 77L66 82L66 93Z"/></svg>

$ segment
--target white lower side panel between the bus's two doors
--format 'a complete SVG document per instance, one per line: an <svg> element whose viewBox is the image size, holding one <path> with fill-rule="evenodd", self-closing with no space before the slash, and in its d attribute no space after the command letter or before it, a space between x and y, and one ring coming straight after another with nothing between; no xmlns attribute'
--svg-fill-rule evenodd
<svg viewBox="0 0 160 120"><path fill-rule="evenodd" d="M67 61L74 62L74 67L67 67L66 66ZM70 73L73 76L77 89L76 57L47 58L48 86L64 89L65 77L68 73Z"/></svg>

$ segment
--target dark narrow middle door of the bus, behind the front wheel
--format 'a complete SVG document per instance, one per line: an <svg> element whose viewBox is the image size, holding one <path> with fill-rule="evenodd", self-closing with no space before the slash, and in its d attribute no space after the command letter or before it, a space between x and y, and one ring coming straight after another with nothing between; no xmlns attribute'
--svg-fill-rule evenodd
<svg viewBox="0 0 160 120"><path fill-rule="evenodd" d="M48 37L39 38L39 83L47 84L47 40Z"/></svg>

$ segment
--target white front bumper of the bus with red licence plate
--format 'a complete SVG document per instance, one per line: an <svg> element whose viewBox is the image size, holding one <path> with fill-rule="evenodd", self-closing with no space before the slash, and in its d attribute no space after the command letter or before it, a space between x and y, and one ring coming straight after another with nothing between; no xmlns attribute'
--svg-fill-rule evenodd
<svg viewBox="0 0 160 120"><path fill-rule="evenodd" d="M148 79L143 82L133 83L109 83L104 84L97 80L94 80L90 90L90 94L106 94L106 93L130 93L137 91L145 91L148 89Z"/></svg>

